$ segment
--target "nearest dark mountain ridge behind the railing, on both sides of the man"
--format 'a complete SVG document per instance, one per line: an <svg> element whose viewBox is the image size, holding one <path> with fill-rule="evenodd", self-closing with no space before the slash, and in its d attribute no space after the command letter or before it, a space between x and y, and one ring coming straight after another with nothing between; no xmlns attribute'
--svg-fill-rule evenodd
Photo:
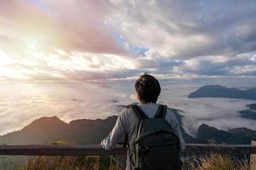
<svg viewBox="0 0 256 170"><path fill-rule="evenodd" d="M120 110L124 107L118 106ZM250 144L252 139L256 139L256 131L247 128L224 131L206 124L202 124L197 136L192 137L183 129L183 116L179 114L181 111L170 110L177 116L186 143L207 143L209 139L214 139L218 143ZM117 117L109 116L104 120L80 119L69 123L62 122L56 116L41 117L19 131L0 136L0 144L49 144L58 140L67 141L68 144L100 144L108 136Z"/></svg>

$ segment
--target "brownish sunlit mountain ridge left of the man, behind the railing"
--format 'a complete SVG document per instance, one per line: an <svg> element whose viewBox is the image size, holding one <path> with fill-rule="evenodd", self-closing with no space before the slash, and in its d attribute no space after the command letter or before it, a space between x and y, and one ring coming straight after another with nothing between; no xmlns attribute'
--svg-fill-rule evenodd
<svg viewBox="0 0 256 170"><path fill-rule="evenodd" d="M117 116L62 122L58 117L41 117L19 131L0 136L0 144L49 144L64 140L69 144L99 144L112 129Z"/></svg>

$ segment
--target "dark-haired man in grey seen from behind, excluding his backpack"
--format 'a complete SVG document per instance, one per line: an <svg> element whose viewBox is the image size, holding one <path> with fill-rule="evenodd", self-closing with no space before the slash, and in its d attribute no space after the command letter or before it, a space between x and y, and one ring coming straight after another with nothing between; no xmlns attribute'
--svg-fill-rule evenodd
<svg viewBox="0 0 256 170"><path fill-rule="evenodd" d="M135 83L135 89L137 92L137 99L140 102L137 106L146 116L148 116L148 118L155 117L160 106L159 104L156 104L156 101L160 95L160 83L158 80L151 75L143 74L143 76L139 77ZM123 111L118 117L111 133L109 133L108 137L103 139L101 143L104 149L111 150L119 142L119 139L127 134L129 150L127 153L126 170L134 168L131 165L131 152L136 150L134 142L136 139L137 125L140 121L135 112L136 111L133 111L131 108L127 107L125 111ZM173 133L179 140L179 149L184 150L185 143L176 116L171 110L167 110L164 118L171 125Z"/></svg>

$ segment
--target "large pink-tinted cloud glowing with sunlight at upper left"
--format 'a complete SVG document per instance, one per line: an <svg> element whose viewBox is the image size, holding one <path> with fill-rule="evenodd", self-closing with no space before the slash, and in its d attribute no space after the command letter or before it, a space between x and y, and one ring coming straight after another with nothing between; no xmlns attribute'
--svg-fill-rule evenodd
<svg viewBox="0 0 256 170"><path fill-rule="evenodd" d="M125 48L119 46L111 30L104 25L108 8L101 0L47 0L44 8L34 2L0 3L3 36L13 40L9 45L0 43L0 47L18 48L19 54L25 53L23 50L32 43L47 52L61 48L67 52L126 54Z"/></svg>

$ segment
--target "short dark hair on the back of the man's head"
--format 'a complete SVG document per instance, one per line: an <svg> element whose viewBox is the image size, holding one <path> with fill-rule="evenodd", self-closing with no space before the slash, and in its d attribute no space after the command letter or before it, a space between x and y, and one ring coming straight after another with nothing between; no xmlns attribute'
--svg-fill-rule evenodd
<svg viewBox="0 0 256 170"><path fill-rule="evenodd" d="M161 91L158 80L146 73L137 79L135 89L141 103L155 103Z"/></svg>

